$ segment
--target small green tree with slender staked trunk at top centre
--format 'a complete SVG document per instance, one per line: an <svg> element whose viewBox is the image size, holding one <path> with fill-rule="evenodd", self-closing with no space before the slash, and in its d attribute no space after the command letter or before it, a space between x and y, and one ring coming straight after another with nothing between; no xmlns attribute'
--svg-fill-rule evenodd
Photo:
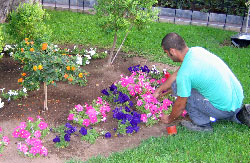
<svg viewBox="0 0 250 163"><path fill-rule="evenodd" d="M114 33L113 46L108 56L108 65L111 65L121 50L129 31L132 27L141 29L145 24L157 19L158 10L153 10L152 6L157 0L97 0L95 6L100 25L107 31ZM113 57L117 33L125 30L123 41Z"/></svg>

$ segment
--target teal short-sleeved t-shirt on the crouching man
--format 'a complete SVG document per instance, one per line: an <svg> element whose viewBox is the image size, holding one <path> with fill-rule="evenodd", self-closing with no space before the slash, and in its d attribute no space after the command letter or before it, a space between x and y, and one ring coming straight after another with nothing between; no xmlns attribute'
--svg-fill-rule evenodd
<svg viewBox="0 0 250 163"><path fill-rule="evenodd" d="M223 111L240 108L244 98L242 86L229 67L201 47L189 49L177 73L176 83L178 96L189 97L194 88Z"/></svg>

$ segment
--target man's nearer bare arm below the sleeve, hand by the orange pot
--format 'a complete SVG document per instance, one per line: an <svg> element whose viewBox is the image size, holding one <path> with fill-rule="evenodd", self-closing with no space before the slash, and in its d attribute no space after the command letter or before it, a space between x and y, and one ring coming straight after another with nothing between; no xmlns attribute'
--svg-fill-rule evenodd
<svg viewBox="0 0 250 163"><path fill-rule="evenodd" d="M180 97L178 96L174 106L172 108L172 112L170 115L163 115L161 121L163 123L171 123L176 120L184 111L187 103L187 97Z"/></svg>

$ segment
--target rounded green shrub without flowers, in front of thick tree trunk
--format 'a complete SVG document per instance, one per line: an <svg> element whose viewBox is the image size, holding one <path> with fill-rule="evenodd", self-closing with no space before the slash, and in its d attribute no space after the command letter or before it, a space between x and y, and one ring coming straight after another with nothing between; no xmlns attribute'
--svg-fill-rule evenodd
<svg viewBox="0 0 250 163"><path fill-rule="evenodd" d="M16 11L9 16L8 33L16 41L24 38L49 38L51 30L44 20L49 19L49 15L38 3L22 3Z"/></svg>

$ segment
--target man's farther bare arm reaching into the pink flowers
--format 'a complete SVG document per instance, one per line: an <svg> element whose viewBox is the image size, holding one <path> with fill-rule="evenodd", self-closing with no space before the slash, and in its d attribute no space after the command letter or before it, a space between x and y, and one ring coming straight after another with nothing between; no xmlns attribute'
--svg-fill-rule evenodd
<svg viewBox="0 0 250 163"><path fill-rule="evenodd" d="M176 80L177 72L179 68L158 88L155 90L153 96L158 98L163 91L167 91L171 88L172 83Z"/></svg>

